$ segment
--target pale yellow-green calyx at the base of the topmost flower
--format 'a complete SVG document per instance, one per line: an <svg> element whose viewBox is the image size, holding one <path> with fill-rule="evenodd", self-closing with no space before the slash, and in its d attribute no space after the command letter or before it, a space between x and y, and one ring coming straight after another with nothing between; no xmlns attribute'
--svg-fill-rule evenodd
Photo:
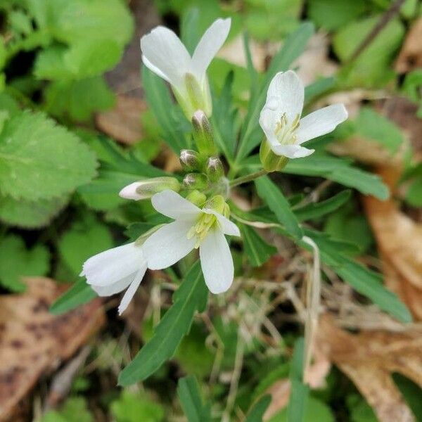
<svg viewBox="0 0 422 422"><path fill-rule="evenodd" d="M201 83L194 75L186 73L183 82L184 89L178 90L173 87L173 92L187 119L191 120L193 113L198 109L204 110L204 113L210 116L212 101L207 77Z"/></svg>

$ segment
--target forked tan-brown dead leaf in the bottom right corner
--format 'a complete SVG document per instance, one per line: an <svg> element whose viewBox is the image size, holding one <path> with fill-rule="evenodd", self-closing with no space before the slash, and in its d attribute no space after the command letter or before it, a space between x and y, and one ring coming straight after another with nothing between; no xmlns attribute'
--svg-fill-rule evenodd
<svg viewBox="0 0 422 422"><path fill-rule="evenodd" d="M380 422L414 422L391 374L401 373L422 387L422 328L402 333L364 331L352 335L321 318L317 344L353 381Z"/></svg>

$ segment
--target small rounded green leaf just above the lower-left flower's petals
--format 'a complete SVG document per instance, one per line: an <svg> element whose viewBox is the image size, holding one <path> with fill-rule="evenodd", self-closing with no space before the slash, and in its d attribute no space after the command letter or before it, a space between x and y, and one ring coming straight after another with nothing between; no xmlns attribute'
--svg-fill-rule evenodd
<svg viewBox="0 0 422 422"><path fill-rule="evenodd" d="M74 222L58 241L60 257L75 274L82 271L82 264L89 257L110 248L113 238L108 227L92 215Z"/></svg>

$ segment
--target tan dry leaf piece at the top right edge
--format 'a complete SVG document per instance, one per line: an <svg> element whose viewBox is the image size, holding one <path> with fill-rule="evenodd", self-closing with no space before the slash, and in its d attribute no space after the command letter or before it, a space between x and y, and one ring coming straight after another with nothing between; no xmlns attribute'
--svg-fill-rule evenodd
<svg viewBox="0 0 422 422"><path fill-rule="evenodd" d="M395 70L399 73L420 68L422 68L422 18L416 20L407 33L395 64Z"/></svg>

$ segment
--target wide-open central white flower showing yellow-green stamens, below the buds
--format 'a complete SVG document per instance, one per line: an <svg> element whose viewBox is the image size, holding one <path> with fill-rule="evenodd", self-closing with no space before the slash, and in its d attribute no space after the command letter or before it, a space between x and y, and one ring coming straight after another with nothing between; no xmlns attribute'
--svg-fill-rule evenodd
<svg viewBox="0 0 422 422"><path fill-rule="evenodd" d="M240 236L236 224L215 210L200 210L174 191L155 194L152 203L155 210L175 221L143 244L148 268L170 267L199 248L205 283L212 293L225 292L233 281L234 265L224 234Z"/></svg>

